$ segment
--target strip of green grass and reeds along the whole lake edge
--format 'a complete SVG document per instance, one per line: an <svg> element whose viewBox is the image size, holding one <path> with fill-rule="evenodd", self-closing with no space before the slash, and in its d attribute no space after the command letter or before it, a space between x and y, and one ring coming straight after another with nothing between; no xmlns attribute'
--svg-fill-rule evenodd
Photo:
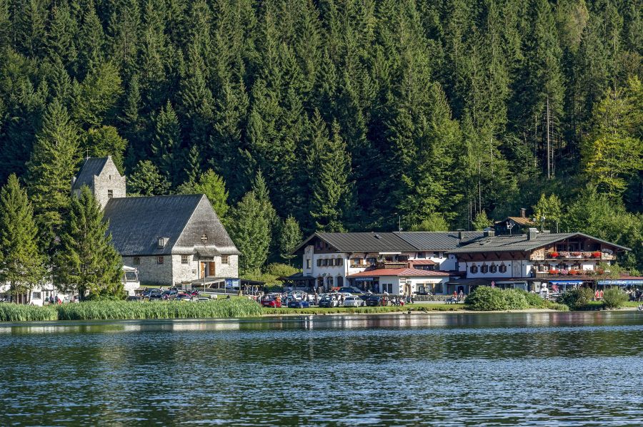
<svg viewBox="0 0 643 427"><path fill-rule="evenodd" d="M634 310L626 304L621 310ZM19 304L0 304L0 321L55 320L145 320L145 319L242 319L256 317L302 316L328 314L484 314L521 312L560 312L552 308L529 308L494 312L474 311L464 304L407 304L404 307L335 307L307 309L271 309L245 298L219 299L210 302L81 302L35 307Z"/></svg>

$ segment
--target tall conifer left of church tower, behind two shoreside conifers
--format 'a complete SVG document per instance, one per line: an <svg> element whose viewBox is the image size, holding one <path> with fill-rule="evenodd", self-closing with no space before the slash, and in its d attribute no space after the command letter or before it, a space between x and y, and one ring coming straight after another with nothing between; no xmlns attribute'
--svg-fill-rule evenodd
<svg viewBox="0 0 643 427"><path fill-rule="evenodd" d="M69 207L71 178L78 165L79 129L58 101L46 110L27 165L27 190L34 203L36 222L45 247L54 245Z"/></svg>

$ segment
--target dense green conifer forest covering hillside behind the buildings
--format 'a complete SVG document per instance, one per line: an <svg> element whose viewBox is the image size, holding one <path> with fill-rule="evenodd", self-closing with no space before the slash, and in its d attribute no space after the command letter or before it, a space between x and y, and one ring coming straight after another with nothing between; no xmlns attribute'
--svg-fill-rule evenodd
<svg viewBox="0 0 643 427"><path fill-rule="evenodd" d="M132 194L206 192L247 268L299 227L473 229L519 207L641 268L642 11L0 0L0 183L26 185L45 247L82 159L110 154Z"/></svg>

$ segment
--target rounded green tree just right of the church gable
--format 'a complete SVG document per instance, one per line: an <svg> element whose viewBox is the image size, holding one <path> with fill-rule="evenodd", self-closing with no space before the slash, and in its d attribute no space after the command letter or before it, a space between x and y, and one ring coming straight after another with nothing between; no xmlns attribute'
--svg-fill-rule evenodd
<svg viewBox="0 0 643 427"><path fill-rule="evenodd" d="M254 191L244 195L230 218L230 237L241 251L239 275L257 274L268 259L270 226Z"/></svg>

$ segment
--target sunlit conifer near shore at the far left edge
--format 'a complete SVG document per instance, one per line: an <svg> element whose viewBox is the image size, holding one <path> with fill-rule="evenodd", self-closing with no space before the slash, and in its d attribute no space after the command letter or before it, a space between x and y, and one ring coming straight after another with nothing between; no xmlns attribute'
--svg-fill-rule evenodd
<svg viewBox="0 0 643 427"><path fill-rule="evenodd" d="M14 297L29 294L44 279L44 257L37 238L34 209L12 174L0 190L0 281L9 282Z"/></svg>

